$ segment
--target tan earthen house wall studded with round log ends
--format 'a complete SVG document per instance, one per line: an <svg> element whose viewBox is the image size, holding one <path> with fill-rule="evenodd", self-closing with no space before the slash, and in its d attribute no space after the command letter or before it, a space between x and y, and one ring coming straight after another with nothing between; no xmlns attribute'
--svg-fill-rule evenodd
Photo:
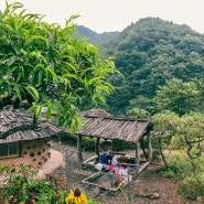
<svg viewBox="0 0 204 204"><path fill-rule="evenodd" d="M51 157L50 150L49 138L21 141L20 157L1 159L0 164L19 165L20 163L28 163L33 168L40 168Z"/></svg>

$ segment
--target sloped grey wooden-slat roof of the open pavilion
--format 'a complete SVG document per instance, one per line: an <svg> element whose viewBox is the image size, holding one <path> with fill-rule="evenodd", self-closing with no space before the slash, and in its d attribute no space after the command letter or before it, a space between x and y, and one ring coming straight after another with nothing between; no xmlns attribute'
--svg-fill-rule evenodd
<svg viewBox="0 0 204 204"><path fill-rule="evenodd" d="M95 115L88 114L93 111ZM96 109L88 112L83 112L85 125L77 131L77 135L137 142L146 133L150 125L148 119L103 116L101 111L97 115Z"/></svg>

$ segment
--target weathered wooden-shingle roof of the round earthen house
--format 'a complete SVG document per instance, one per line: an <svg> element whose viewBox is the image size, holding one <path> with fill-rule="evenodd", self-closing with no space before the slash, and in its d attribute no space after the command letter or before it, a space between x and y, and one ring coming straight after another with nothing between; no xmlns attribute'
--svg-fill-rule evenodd
<svg viewBox="0 0 204 204"><path fill-rule="evenodd" d="M25 109L7 106L0 110L0 143L33 140L54 136L60 129L41 117L37 126Z"/></svg>

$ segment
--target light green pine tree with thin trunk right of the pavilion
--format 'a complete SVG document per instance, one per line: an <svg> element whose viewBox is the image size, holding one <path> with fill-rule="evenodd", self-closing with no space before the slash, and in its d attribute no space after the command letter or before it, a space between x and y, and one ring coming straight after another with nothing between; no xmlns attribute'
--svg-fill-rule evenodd
<svg viewBox="0 0 204 204"><path fill-rule="evenodd" d="M162 137L164 141L168 139L168 144L185 150L191 161L191 170L195 173L196 160L204 152L204 115L191 111L180 117L164 111L152 117L152 122L159 138ZM172 142L176 143L173 146Z"/></svg>

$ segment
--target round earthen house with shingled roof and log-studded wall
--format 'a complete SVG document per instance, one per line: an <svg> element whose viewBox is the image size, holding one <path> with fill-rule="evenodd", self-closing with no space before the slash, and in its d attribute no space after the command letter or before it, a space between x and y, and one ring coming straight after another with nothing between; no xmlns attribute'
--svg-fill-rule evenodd
<svg viewBox="0 0 204 204"><path fill-rule="evenodd" d="M35 125L25 109L6 106L0 110L0 164L43 165L51 155L50 137L58 131L43 117Z"/></svg>

